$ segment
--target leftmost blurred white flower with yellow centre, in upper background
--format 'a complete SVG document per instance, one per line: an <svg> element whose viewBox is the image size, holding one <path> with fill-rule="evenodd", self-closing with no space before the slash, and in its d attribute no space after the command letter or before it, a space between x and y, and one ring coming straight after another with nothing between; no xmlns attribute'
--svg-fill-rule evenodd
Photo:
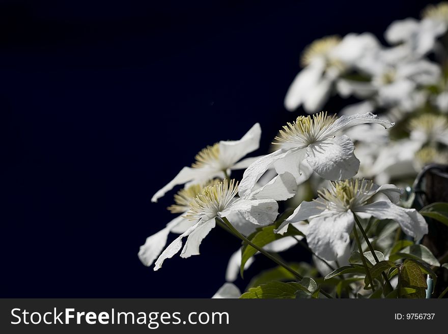
<svg viewBox="0 0 448 334"><path fill-rule="evenodd" d="M302 54L303 70L288 89L285 108L294 111L303 105L308 113L320 110L335 80L376 47L378 43L371 34L348 34L342 40L329 36L314 41Z"/></svg>

